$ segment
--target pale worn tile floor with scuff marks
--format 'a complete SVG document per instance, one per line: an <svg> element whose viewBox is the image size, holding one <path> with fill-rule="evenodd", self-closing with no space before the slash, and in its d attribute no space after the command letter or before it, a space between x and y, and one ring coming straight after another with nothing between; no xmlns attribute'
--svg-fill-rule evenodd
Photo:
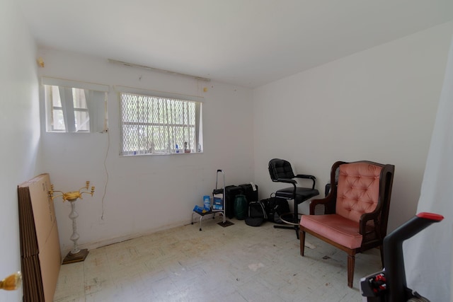
<svg viewBox="0 0 453 302"><path fill-rule="evenodd" d="M301 257L294 231L221 220L90 250L62 265L54 301L362 301L360 277L380 269L379 250L357 255L350 289L345 252L307 235Z"/></svg>

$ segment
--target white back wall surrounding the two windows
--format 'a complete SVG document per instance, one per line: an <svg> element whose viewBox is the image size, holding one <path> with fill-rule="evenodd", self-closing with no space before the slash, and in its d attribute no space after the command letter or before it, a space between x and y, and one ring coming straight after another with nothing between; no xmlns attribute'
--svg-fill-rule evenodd
<svg viewBox="0 0 453 302"><path fill-rule="evenodd" d="M120 66L107 58L46 49L38 52L45 62L45 68L38 71L42 76L111 86L109 134L42 133L43 166L55 190L76 190L86 180L96 186L93 198L85 195L76 202L81 247L189 223L195 204L202 204L203 195L212 194L217 169L225 171L227 185L253 180L251 90ZM115 85L204 97L204 153L119 156ZM69 203L55 199L63 253L72 245L69 208Z"/></svg>

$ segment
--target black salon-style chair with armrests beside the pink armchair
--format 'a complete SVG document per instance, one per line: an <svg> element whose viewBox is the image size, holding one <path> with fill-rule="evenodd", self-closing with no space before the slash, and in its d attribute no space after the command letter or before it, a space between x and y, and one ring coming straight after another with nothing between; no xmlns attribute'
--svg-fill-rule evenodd
<svg viewBox="0 0 453 302"><path fill-rule="evenodd" d="M313 175L298 174L294 175L291 164L280 158L273 158L269 161L269 174L273 182L285 182L292 184L292 187L277 190L275 197L294 200L293 213L286 213L280 216L280 219L292 226L274 226L274 228L289 228L296 231L297 239L299 239L299 213L297 207L302 202L319 195L319 191L314 188L316 178ZM297 187L297 181L294 178L304 178L313 181L310 187Z"/></svg>

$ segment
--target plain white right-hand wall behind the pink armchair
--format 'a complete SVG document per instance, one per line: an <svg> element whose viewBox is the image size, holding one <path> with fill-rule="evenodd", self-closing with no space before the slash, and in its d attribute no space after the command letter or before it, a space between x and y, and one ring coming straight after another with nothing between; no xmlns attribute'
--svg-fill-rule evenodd
<svg viewBox="0 0 453 302"><path fill-rule="evenodd" d="M255 180L270 158L313 174L322 192L335 161L395 165L389 231L415 214L453 23L270 83L254 91ZM301 54L303 56L304 54ZM306 213L302 204L300 211Z"/></svg>

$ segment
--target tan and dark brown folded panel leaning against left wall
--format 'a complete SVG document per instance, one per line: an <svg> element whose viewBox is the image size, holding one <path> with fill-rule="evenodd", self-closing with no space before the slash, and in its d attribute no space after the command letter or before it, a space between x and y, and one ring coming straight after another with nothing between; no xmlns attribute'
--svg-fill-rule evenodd
<svg viewBox="0 0 453 302"><path fill-rule="evenodd" d="M45 173L18 186L23 301L53 301L62 255Z"/></svg>

